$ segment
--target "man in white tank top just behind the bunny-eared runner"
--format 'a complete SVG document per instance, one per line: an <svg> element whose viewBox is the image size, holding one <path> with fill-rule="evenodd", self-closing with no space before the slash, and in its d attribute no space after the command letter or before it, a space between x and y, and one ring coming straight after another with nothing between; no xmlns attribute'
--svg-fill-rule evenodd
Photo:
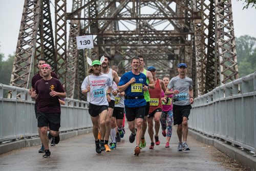
<svg viewBox="0 0 256 171"><path fill-rule="evenodd" d="M110 68L110 61L111 61L110 57L104 56L104 61L102 62L101 72L110 77L112 85L113 85L113 82L118 84L119 77L117 75L117 72ZM105 151L108 151L108 152L111 152L111 149L109 148L108 143L109 143L110 131L111 131L111 118L112 118L113 110L115 107L115 96L117 95L117 93L118 93L118 90L111 92L111 101L109 102L108 116L106 117L106 123L105 123L106 132L105 132L104 137L102 137L102 135L101 135L101 138L104 138ZM100 143L102 146L103 139L101 139L100 141L101 141Z"/></svg>

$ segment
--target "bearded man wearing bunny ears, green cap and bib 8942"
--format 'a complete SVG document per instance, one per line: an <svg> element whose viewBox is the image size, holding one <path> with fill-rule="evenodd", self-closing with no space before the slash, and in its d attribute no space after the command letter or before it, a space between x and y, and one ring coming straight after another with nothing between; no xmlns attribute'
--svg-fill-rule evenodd
<svg viewBox="0 0 256 171"><path fill-rule="evenodd" d="M102 61L102 60L101 60ZM99 145L98 133L99 126L101 136L105 135L105 120L108 114L108 107L110 102L110 92L112 89L111 79L101 73L101 62L99 60L88 60L92 66L89 69L91 75L87 76L81 85L83 94L87 93L87 101L89 102L89 114L91 115L93 123L93 135L95 138L96 152L101 153ZM108 90L108 91L107 91ZM107 94L105 93L107 91Z"/></svg>

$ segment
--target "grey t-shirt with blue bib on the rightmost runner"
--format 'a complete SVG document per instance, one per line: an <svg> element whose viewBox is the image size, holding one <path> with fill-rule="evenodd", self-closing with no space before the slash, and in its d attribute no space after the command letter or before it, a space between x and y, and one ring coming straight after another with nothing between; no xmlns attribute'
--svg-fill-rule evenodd
<svg viewBox="0 0 256 171"><path fill-rule="evenodd" d="M179 90L179 94L173 95L173 104L179 106L189 105L189 89L193 88L192 79L185 77L181 79L179 76L170 80L167 86L168 89Z"/></svg>

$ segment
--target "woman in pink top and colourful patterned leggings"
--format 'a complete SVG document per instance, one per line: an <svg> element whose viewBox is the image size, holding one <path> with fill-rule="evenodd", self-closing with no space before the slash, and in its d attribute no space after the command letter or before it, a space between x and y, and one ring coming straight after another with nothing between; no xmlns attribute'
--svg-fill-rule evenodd
<svg viewBox="0 0 256 171"><path fill-rule="evenodd" d="M163 78L163 83L167 87L169 83L169 78L164 77ZM172 91L172 90L171 90ZM164 91L162 90L161 97L164 97ZM166 102L162 101L162 114L160 118L160 123L162 127L162 135L166 137L166 128L167 128L167 137L166 137L166 144L165 148L169 148L169 142L170 142L170 137L172 137L173 134L173 104L172 104L172 97L173 94L168 95L165 97ZM167 125L166 125L167 122Z"/></svg>

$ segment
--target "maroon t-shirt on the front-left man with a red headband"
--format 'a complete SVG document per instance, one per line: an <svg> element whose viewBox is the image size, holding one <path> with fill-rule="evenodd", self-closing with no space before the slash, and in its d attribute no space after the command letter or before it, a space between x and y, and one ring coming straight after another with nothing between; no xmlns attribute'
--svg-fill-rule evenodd
<svg viewBox="0 0 256 171"><path fill-rule="evenodd" d="M38 94L37 111L44 113L60 113L60 104L58 96L51 96L50 92L65 92L58 79L41 79L35 83L35 92Z"/></svg>

